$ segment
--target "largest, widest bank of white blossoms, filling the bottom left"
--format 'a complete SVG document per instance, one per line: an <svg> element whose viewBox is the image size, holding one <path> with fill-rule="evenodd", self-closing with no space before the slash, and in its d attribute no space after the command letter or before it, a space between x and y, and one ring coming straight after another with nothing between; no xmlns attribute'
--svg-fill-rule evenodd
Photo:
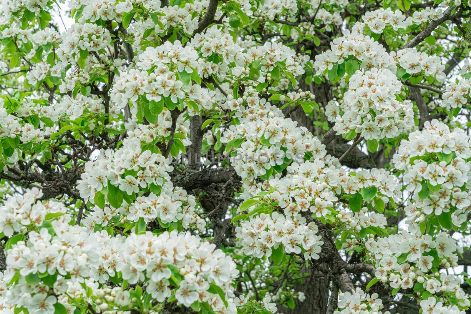
<svg viewBox="0 0 471 314"><path fill-rule="evenodd" d="M184 306L208 302L214 311L236 313L231 300L232 281L238 270L222 250L215 250L214 244L177 231L112 237L106 231L90 233L85 227L70 225L70 220L69 215L52 220L50 228L31 231L27 241L19 241L7 251L5 281L13 285L3 292L8 300L3 306L24 307L30 312L41 308L41 313L52 314L59 302L73 312L69 298L87 300L90 295L85 288L104 298L108 289L99 289L98 283L122 276L130 284L148 282L146 293L158 302L174 291ZM16 273L20 277L14 279ZM211 289L213 285L225 295ZM227 298L227 307L221 297ZM102 302L107 305L102 306ZM101 310L118 309L130 303L129 292L116 293L102 302L96 302Z"/></svg>

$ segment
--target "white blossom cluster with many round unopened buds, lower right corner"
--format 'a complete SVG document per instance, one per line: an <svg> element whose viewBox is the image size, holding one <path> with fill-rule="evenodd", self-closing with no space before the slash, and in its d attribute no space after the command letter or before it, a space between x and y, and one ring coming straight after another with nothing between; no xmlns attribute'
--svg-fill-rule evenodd
<svg viewBox="0 0 471 314"><path fill-rule="evenodd" d="M461 306L470 305L460 287L461 279L455 274L437 272L439 266L457 266L457 253L463 252L448 233L440 232L432 238L413 224L408 231L368 239L365 248L376 260L375 276L392 288L413 288L418 282L423 287L421 291L443 293L443 296L456 298Z"/></svg>

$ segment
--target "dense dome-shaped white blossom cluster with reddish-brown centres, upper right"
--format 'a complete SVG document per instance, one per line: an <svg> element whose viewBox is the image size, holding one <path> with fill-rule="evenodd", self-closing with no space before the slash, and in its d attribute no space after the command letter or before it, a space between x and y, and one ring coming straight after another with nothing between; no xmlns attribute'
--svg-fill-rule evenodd
<svg viewBox="0 0 471 314"><path fill-rule="evenodd" d="M343 102L330 101L325 114L335 122L337 134L355 132L367 140L397 137L414 126L411 101L396 99L401 87L388 69L358 70L350 78Z"/></svg>

